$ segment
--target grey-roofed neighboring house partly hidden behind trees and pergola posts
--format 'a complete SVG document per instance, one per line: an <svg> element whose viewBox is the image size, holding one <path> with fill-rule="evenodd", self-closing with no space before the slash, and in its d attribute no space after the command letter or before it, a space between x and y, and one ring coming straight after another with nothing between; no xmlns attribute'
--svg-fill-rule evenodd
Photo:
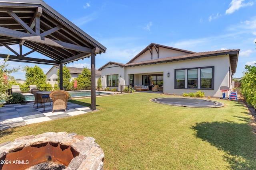
<svg viewBox="0 0 256 170"><path fill-rule="evenodd" d="M52 66L52 68L50 68L50 70L46 73L46 81L49 82L50 84L52 84L52 87L54 86L54 84L58 84L57 80L58 80L58 69L60 68L60 66ZM72 80L74 78L77 78L82 71L84 70L84 68L76 68L76 67L67 67L70 71L70 82L72 82ZM88 69L90 70L90 69ZM91 71L91 70L90 70ZM98 81L98 78L101 77L101 71L99 70L95 70L95 75L96 75L96 83Z"/></svg>

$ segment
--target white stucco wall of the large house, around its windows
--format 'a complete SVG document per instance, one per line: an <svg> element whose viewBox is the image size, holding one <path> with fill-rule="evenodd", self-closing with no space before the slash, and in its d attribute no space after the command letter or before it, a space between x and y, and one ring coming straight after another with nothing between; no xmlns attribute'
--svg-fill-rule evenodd
<svg viewBox="0 0 256 170"><path fill-rule="evenodd" d="M201 68L201 67L214 66L214 90L203 90L203 89L175 89L175 69L187 69L187 68ZM165 94L182 94L184 92L197 92L201 90L205 92L205 96L222 97L220 86L230 86L228 72L230 67L230 61L228 55L204 57L200 59L192 59L185 61L173 61L168 63L148 64L142 66L132 66L121 68L120 66L107 66L103 68L102 85L106 86L106 75L119 74L122 78L119 80L119 85L127 85L129 83L129 74L134 74L134 84L142 84L143 74L163 74L164 76L164 93ZM167 77L167 73L170 72L170 77ZM198 80L200 81L200 80ZM226 94L228 96L228 93Z"/></svg>

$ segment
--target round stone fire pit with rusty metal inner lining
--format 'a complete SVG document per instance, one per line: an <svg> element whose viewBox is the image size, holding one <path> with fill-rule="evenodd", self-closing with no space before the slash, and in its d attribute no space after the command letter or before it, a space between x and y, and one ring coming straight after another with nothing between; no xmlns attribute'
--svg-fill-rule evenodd
<svg viewBox="0 0 256 170"><path fill-rule="evenodd" d="M2 170L103 170L104 152L92 137L47 132L0 144Z"/></svg>

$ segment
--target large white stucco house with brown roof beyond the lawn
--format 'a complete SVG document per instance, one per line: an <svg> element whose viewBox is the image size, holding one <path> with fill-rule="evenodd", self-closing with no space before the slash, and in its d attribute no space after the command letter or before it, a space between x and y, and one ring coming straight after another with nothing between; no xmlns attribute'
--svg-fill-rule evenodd
<svg viewBox="0 0 256 170"><path fill-rule="evenodd" d="M205 96L221 97L220 86L232 88L240 49L195 53L150 44L128 63L108 62L100 67L102 86L162 86L164 94L201 90Z"/></svg>

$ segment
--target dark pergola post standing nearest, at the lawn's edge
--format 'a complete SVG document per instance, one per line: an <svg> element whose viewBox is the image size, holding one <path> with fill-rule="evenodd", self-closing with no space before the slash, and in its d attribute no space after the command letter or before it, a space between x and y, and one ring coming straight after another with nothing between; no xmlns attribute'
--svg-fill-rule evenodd
<svg viewBox="0 0 256 170"><path fill-rule="evenodd" d="M91 110L96 110L95 56L91 55Z"/></svg>

